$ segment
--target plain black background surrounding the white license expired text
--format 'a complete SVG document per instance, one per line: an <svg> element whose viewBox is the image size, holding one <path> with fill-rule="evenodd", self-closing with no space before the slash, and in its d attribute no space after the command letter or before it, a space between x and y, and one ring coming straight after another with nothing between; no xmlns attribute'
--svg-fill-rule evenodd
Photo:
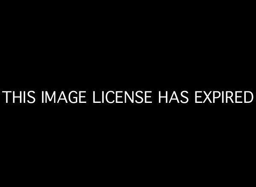
<svg viewBox="0 0 256 187"><path fill-rule="evenodd" d="M2 102L5 176L131 184L250 178L255 101L196 105L193 96L255 94L247 7L42 7L3 13L1 91L152 90L154 104ZM187 105L157 104L157 91L183 90Z"/></svg>

